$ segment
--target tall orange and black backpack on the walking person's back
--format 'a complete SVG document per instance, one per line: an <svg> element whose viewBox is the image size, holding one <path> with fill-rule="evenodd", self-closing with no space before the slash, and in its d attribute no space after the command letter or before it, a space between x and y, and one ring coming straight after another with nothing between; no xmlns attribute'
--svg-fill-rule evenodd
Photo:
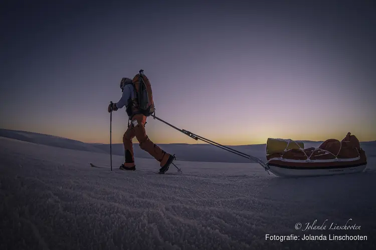
<svg viewBox="0 0 376 250"><path fill-rule="evenodd" d="M136 91L134 99L134 104L137 109L136 113L142 113L145 116L154 113L155 108L151 84L142 69L133 77L132 84Z"/></svg>

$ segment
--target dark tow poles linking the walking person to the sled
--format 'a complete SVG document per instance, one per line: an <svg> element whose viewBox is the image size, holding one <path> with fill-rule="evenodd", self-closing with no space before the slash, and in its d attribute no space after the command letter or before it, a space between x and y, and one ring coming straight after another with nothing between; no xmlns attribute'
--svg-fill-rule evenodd
<svg viewBox="0 0 376 250"><path fill-rule="evenodd" d="M254 162L256 162L256 163L259 163L259 164L260 164L262 167L264 167L265 170L269 173L269 171L268 171L269 166L268 166L264 161L262 161L261 159L259 159L259 158L257 158L257 157L254 157L254 156L252 156L252 155L249 155L249 154L243 153L243 152L241 152L241 151L235 150L235 149L233 149L233 148L231 148L231 147L228 147L228 146L222 145L222 144L220 144L220 143L218 143L218 142L215 142L215 141L213 141L213 140L210 140L210 139L204 138L204 137L202 137L202 136L200 136L200 135L197 135L197 134L195 134L195 133L192 133L192 132L190 132L190 131L188 131L188 130L180 129L180 128L178 128L178 127L176 127L176 126L174 126L174 125L168 123L167 121L164 121L164 120L162 120L161 118L155 116L155 112L154 112L154 114L151 114L151 116L152 116L154 119L157 119L157 120L159 120L159 121L162 121L163 123L169 125L170 127L175 128L176 130L178 130L178 131L180 131L180 132L182 132L182 133L184 133L184 134L190 136L191 138L193 138L193 139L195 139L195 140L202 140L202 141L204 141L204 142L207 142L207 143L209 143L209 144L212 144L212 145L214 145L214 146L217 146L217 147L219 147L219 148L222 148L222 149L224 149L224 150L226 150L226 151L229 151L229 152L235 153L235 154L237 154L237 155L239 155L239 156L245 157L245 158L250 159L250 160L252 160L252 161L254 161ZM270 174L270 173L269 173L269 174Z"/></svg>

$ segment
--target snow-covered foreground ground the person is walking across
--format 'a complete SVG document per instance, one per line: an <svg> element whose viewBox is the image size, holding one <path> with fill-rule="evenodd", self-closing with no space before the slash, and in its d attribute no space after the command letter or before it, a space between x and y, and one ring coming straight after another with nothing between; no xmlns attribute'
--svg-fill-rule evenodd
<svg viewBox="0 0 376 250"><path fill-rule="evenodd" d="M123 157L0 137L0 249L376 249L376 171L281 178L254 163ZM177 155L178 158L178 155ZM91 167L89 162L98 167ZM360 230L296 230L331 222ZM265 234L366 235L364 241L278 241Z"/></svg>

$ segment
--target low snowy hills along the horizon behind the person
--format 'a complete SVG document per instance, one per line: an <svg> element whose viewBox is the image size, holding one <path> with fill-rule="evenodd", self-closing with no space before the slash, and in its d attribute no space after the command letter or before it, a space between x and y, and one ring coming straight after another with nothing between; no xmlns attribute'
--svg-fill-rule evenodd
<svg viewBox="0 0 376 250"><path fill-rule="evenodd" d="M50 145L55 147L62 147L75 150L110 153L110 145L103 143L85 143L78 140L63 138L54 135L18 131L0 128L0 136L28 141L37 144ZM319 146L322 141L300 140L304 142L305 147ZM204 161L204 162L250 162L248 158L241 157L234 153L225 151L216 146L200 143L200 144L187 144L187 143L171 143L171 144L158 144L163 150L176 154L178 160L184 161ZM361 142L361 146L366 151L367 155L374 155L376 153L376 141ZM249 144L249 145L236 145L229 146L238 151L250 154L252 156L261 158L266 161L265 149L266 144ZM147 152L142 150L138 143L133 145L136 157L152 158ZM124 147L122 143L112 144L112 153L115 155L124 155Z"/></svg>

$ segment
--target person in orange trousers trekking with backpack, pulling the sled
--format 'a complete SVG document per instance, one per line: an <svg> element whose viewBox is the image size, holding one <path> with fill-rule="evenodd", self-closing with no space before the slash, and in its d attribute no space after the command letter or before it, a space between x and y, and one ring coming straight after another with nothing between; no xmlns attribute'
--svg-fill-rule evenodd
<svg viewBox="0 0 376 250"><path fill-rule="evenodd" d="M146 117L154 112L151 85L148 78L143 74L143 70L141 69L133 79L123 77L120 81L120 88L122 91L120 100L116 103L111 102L112 104L110 103L108 106L108 112L116 111L125 106L129 117L128 128L123 135L125 162L119 168L121 170L136 169L132 143L133 137L136 136L141 149L148 152L160 162L159 173L164 173L168 170L175 156L165 152L154 144L146 134Z"/></svg>

